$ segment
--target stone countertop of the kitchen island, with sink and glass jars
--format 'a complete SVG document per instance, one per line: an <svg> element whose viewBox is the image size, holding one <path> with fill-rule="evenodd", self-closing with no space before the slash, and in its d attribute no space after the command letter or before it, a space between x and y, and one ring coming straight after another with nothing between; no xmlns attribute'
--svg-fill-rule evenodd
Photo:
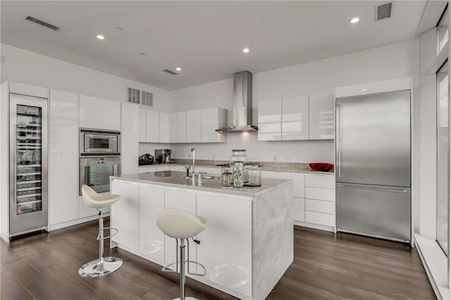
<svg viewBox="0 0 451 300"><path fill-rule="evenodd" d="M118 175L111 176L110 178L112 180L116 179L144 184L163 185L168 187L183 187L184 189L251 197L257 197L261 194L271 192L276 187L282 187L290 184L292 185L292 180L262 178L260 187L223 187L220 180L202 178L202 186L199 187L197 185L192 185L192 180L186 179L184 172L177 171L157 171L131 175Z"/></svg>

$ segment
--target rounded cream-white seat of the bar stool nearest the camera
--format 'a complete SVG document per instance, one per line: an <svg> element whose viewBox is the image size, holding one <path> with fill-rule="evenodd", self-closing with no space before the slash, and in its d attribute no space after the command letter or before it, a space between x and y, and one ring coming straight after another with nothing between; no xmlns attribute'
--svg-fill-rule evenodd
<svg viewBox="0 0 451 300"><path fill-rule="evenodd" d="M156 225L168 237L187 239L202 232L206 227L206 220L183 209L169 208L161 211Z"/></svg>

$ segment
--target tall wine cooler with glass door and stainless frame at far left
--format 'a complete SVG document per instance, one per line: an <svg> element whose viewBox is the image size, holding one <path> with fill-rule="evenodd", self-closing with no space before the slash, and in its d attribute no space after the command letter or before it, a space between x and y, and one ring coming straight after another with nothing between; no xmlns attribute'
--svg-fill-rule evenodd
<svg viewBox="0 0 451 300"><path fill-rule="evenodd" d="M10 236L44 229L47 217L47 99L10 94Z"/></svg>

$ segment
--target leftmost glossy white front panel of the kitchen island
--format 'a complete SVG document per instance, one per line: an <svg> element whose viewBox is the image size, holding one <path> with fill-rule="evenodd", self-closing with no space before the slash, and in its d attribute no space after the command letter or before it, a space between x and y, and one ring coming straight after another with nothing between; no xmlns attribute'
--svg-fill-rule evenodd
<svg viewBox="0 0 451 300"><path fill-rule="evenodd" d="M111 194L121 195L121 200L111 206L111 227L121 228L114 237L118 242L132 250L139 249L139 185L132 182L113 180ZM116 213L121 212L121 213Z"/></svg>

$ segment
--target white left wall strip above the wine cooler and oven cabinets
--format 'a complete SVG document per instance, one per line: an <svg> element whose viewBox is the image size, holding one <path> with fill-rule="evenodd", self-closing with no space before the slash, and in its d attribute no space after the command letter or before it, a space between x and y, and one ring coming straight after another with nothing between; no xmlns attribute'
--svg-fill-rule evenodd
<svg viewBox="0 0 451 300"><path fill-rule="evenodd" d="M167 112L171 109L170 94L164 89L7 44L1 44L1 55L5 56L5 63L1 64L1 82L11 80L116 101L127 101L127 87L132 87L152 92L156 110Z"/></svg>

